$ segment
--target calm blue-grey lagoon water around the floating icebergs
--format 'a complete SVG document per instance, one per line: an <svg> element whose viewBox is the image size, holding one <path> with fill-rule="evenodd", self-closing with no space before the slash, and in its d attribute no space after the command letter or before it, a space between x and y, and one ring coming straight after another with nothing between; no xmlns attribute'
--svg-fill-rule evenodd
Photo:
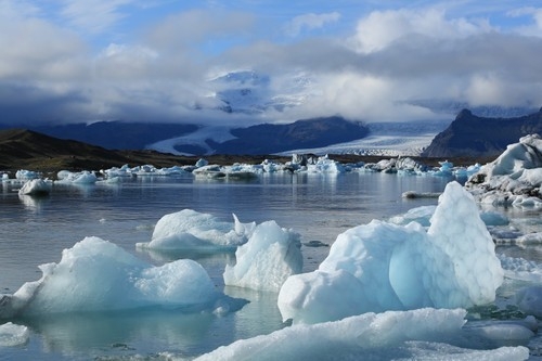
<svg viewBox="0 0 542 361"><path fill-rule="evenodd" d="M55 185L50 196L20 198L16 189L0 193L0 293L14 293L40 278L37 266L57 262L62 249L89 235L111 241L154 265L177 258L202 263L220 289L222 272L234 255L158 254L136 250L151 240L162 216L184 208L221 220L275 220L301 234L302 242L331 244L349 228L387 219L437 199L402 199L405 191L441 192L448 179L383 173L264 175L250 182L202 181L192 177L139 178L118 184ZM304 271L312 271L328 247L304 247ZM235 339L281 328L276 295L224 289L250 300L224 317L130 311L66 314L17 320L30 327L30 341L0 349L0 359L90 360L151 357L170 352L188 358Z"/></svg>

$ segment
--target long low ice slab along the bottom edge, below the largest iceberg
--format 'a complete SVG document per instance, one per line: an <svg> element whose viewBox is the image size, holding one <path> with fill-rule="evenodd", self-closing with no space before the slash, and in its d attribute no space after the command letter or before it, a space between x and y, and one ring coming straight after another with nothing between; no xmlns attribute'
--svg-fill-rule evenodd
<svg viewBox="0 0 542 361"><path fill-rule="evenodd" d="M203 354L197 361L225 360L527 360L522 346L475 349L475 333L463 327L461 309L418 309L365 313L314 325L297 324L249 339L237 340ZM500 335L521 337L526 327L480 327L478 339ZM496 341L498 344L498 341Z"/></svg>

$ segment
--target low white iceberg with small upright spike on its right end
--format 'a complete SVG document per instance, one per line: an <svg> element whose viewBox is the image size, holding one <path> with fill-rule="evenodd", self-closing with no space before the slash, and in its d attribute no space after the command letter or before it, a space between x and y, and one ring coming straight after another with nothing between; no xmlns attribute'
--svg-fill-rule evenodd
<svg viewBox="0 0 542 361"><path fill-rule="evenodd" d="M160 250L233 250L248 241L256 223L220 221L212 215L183 209L165 215L158 220L150 243L138 243L140 248Z"/></svg>

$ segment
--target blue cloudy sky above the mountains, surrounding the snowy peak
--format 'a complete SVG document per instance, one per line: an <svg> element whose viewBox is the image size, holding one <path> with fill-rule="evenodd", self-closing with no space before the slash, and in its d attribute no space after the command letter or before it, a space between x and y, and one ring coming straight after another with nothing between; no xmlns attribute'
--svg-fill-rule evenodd
<svg viewBox="0 0 542 361"><path fill-rule="evenodd" d="M539 0L0 0L0 123L258 124L542 106ZM219 81L269 79L227 114ZM215 80L214 80L215 79Z"/></svg>

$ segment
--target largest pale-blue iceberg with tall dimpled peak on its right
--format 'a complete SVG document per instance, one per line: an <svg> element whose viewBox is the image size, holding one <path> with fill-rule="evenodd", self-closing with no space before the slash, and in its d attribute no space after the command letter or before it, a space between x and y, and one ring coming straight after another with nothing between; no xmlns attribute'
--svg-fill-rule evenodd
<svg viewBox="0 0 542 361"><path fill-rule="evenodd" d="M284 320L315 323L364 312L468 308L494 300L503 270L473 196L447 185L426 231L373 220L339 234L311 273L279 294Z"/></svg>

